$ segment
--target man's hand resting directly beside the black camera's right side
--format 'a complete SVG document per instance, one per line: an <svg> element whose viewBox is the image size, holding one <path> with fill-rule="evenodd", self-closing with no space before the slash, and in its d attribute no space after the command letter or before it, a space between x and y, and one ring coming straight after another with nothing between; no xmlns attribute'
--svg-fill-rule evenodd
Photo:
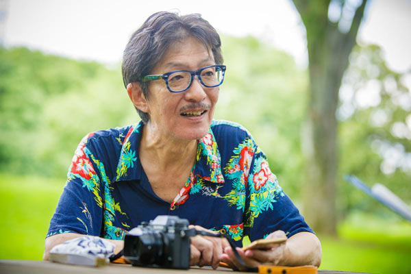
<svg viewBox="0 0 411 274"><path fill-rule="evenodd" d="M216 234L216 232L199 225L190 225L189 227ZM224 249L229 247L229 243L225 238L197 235L191 237L190 240L190 265L198 264L199 266L205 266L206 264L211 264L212 268L216 269L219 266L219 262L221 262Z"/></svg>

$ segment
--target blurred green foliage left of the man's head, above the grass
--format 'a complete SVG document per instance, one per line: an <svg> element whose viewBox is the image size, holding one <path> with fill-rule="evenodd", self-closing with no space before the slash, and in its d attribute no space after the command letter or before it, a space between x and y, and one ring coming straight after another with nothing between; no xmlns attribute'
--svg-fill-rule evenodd
<svg viewBox="0 0 411 274"><path fill-rule="evenodd" d="M0 47L0 169L58 176L79 140L127 121L118 71L25 48Z"/></svg>

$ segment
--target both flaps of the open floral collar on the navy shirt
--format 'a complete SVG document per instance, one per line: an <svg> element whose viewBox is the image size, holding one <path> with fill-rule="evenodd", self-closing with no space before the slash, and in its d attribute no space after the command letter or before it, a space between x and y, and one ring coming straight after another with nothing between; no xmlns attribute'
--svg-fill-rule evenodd
<svg viewBox="0 0 411 274"><path fill-rule="evenodd" d="M140 121L140 123L130 127L127 132L121 147L116 177L112 178L112 182L142 179L145 176L138 157L138 146L140 145L143 125ZM194 173L197 177L201 177L206 181L224 183L223 173L221 172L221 155L211 127L208 129L206 136L199 140Z"/></svg>

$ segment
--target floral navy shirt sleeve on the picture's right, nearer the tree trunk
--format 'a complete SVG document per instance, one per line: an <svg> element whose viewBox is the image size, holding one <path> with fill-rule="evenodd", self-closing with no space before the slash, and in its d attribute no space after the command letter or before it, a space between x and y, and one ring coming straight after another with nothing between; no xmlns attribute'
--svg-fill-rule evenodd
<svg viewBox="0 0 411 274"><path fill-rule="evenodd" d="M287 237L312 232L297 207L283 192L264 153L256 146L247 180L245 234L250 240L282 230Z"/></svg>

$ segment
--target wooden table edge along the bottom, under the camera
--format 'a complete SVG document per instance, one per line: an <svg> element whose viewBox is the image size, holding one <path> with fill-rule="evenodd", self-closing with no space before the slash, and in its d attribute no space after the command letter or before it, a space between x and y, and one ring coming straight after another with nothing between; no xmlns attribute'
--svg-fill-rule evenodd
<svg viewBox="0 0 411 274"><path fill-rule="evenodd" d="M109 264L108 266L101 267L88 267L88 266L75 266L70 264L58 264L55 262L45 261L21 261L21 260L0 260L0 273L7 274L175 274L175 273L187 273L187 274L223 274L232 273L231 269L212 269L205 266L203 268L192 267L189 270L179 269L149 269L143 267L134 267L129 264ZM236 272L240 273L240 272ZM327 271L320 270L321 274L353 274L358 272L345 272L345 271Z"/></svg>

